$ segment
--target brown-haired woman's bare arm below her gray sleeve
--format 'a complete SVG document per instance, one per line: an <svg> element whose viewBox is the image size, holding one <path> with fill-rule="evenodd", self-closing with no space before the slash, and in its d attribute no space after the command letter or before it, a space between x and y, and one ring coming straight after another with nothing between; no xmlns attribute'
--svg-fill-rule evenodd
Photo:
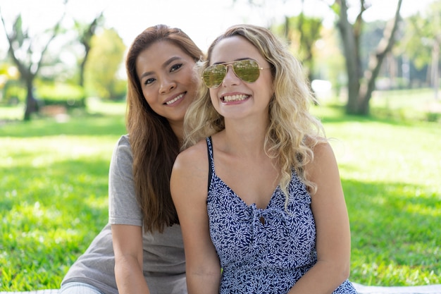
<svg viewBox="0 0 441 294"><path fill-rule="evenodd" d="M142 272L142 227L112 225L115 278L120 294L149 294Z"/></svg>

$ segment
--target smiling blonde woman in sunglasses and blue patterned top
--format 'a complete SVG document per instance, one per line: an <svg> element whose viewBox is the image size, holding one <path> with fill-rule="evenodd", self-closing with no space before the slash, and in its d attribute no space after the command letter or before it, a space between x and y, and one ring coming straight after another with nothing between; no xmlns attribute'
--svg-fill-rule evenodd
<svg viewBox="0 0 441 294"><path fill-rule="evenodd" d="M170 179L188 292L356 293L340 176L299 61L236 25L202 70Z"/></svg>

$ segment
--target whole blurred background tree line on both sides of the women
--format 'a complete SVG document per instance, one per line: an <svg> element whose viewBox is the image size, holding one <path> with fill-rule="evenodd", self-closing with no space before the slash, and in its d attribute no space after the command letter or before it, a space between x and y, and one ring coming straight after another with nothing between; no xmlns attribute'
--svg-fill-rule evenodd
<svg viewBox="0 0 441 294"><path fill-rule="evenodd" d="M243 1L251 6L268 2ZM403 19L398 0L392 19L366 23L370 1L316 0L335 16L333 27L323 25L323 18L308 16L304 2L298 11L287 11L283 23L272 23L270 28L287 39L309 80L327 80L347 97L347 113L368 114L369 101L378 89L433 87L437 98L440 1ZM355 18L349 17L349 10L358 11ZM103 13L90 22L73 19L72 27L62 25L66 18L62 14L40 35L30 35L20 14L9 22L1 10L0 16L8 39L8 57L0 65L0 103L25 102L25 120L42 104L84 107L86 97L124 99L125 45L115 30L106 28ZM75 63L67 66L66 56ZM313 90L323 87L318 85Z"/></svg>

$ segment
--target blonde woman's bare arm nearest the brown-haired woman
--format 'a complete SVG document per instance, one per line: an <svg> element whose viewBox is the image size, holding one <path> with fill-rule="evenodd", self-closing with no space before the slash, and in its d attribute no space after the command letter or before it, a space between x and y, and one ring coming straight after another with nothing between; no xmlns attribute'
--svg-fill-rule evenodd
<svg viewBox="0 0 441 294"><path fill-rule="evenodd" d="M201 144L182 152L175 161L170 179L184 240L189 294L219 293L221 277L221 266L209 233L206 154L206 145Z"/></svg>

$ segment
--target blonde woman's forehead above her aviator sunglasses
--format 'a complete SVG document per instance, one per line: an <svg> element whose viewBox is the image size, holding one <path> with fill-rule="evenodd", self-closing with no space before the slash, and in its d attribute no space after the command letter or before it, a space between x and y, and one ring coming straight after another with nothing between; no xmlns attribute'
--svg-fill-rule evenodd
<svg viewBox="0 0 441 294"><path fill-rule="evenodd" d="M255 59L263 62L259 50L242 36L222 39L211 51L210 64L224 63L239 59Z"/></svg>

